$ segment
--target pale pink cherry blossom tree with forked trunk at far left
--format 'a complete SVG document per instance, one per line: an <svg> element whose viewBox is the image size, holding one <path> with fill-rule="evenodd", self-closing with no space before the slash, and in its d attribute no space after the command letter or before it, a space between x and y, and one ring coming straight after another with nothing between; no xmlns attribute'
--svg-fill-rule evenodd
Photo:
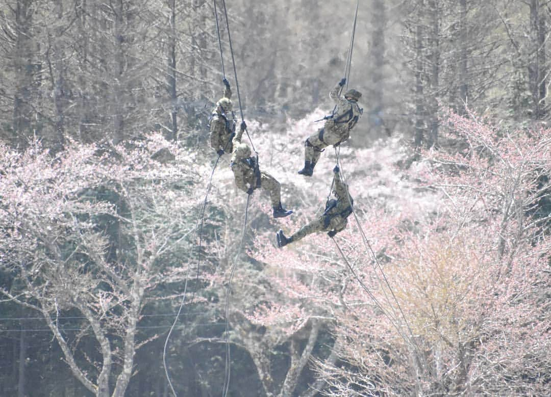
<svg viewBox="0 0 551 397"><path fill-rule="evenodd" d="M136 350L159 335L143 314L186 275L193 154L148 135L0 157L0 263L15 280L2 295L42 314L91 393L125 395Z"/></svg>

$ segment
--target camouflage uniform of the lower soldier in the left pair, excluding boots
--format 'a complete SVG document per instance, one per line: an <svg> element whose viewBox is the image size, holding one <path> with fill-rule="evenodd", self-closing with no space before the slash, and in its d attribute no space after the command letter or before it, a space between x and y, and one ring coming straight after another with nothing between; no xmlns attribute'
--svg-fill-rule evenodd
<svg viewBox="0 0 551 397"><path fill-rule="evenodd" d="M256 161L256 157L251 156L243 159L237 155L237 146L241 143L242 135L243 130L239 129L232 141L234 151L231 155L231 171L234 173L236 186L242 191L247 192L249 188L255 188L258 184L255 168L251 166L252 161ZM276 178L267 172L260 171L260 187L270 195L272 206L279 206L281 201L281 184Z"/></svg>

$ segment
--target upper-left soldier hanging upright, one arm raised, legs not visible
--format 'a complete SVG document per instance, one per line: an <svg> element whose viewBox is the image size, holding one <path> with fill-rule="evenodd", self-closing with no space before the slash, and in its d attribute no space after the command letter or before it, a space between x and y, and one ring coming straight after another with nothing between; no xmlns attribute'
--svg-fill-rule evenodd
<svg viewBox="0 0 551 397"><path fill-rule="evenodd" d="M210 119L210 146L219 156L231 153L231 138L235 135L235 115L231 110L231 89L224 77L224 96L216 102Z"/></svg>

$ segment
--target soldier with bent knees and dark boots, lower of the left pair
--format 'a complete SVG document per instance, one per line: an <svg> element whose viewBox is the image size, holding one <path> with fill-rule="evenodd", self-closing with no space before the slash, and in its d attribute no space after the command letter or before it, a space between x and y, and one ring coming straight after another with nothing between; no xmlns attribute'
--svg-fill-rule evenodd
<svg viewBox="0 0 551 397"><path fill-rule="evenodd" d="M260 171L258 156L251 156L249 145L241 143L245 128L247 128L245 122L241 122L239 132L232 141L234 151L231 154L231 171L234 172L235 184L247 194L252 194L256 188L266 190L272 200L274 217L280 218L292 214L293 211L287 211L281 205L279 182L269 173Z"/></svg>

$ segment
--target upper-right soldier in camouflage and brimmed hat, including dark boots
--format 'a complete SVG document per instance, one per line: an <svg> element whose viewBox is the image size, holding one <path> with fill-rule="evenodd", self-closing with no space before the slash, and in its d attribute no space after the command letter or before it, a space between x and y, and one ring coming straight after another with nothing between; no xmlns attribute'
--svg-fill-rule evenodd
<svg viewBox="0 0 551 397"><path fill-rule="evenodd" d="M310 135L304 143L304 168L299 171L301 175L312 176L314 166L320 159L321 152L329 145L337 146L350 137L350 130L354 128L361 116L362 110L358 106L361 93L356 90L348 90L344 97L339 97L346 79L342 79L331 90L329 96L337 104L333 114L324 119L327 121L323 128Z"/></svg>

